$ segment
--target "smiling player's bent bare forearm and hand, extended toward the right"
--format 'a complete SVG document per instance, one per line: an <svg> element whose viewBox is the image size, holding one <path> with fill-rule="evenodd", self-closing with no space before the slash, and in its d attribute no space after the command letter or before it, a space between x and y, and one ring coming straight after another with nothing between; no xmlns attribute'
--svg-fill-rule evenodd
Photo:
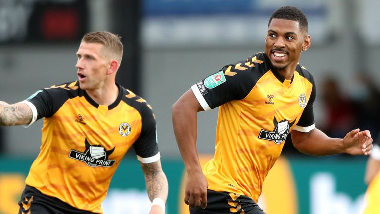
<svg viewBox="0 0 380 214"><path fill-rule="evenodd" d="M330 138L319 129L307 133L293 130L291 138L296 149L310 155L370 155L372 149L372 138L368 130L352 130L343 139Z"/></svg>

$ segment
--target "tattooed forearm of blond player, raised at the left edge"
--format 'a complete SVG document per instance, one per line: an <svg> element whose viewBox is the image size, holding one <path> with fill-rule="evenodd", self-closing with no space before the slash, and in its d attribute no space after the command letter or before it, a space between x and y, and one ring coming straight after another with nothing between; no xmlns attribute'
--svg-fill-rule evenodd
<svg viewBox="0 0 380 214"><path fill-rule="evenodd" d="M32 109L25 103L8 104L0 101L0 125L26 125L32 121Z"/></svg>

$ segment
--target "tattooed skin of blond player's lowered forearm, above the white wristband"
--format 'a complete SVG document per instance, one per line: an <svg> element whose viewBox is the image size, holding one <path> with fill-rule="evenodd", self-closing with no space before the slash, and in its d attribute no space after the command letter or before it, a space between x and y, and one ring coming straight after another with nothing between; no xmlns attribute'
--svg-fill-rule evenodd
<svg viewBox="0 0 380 214"><path fill-rule="evenodd" d="M157 197L166 201L168 197L168 180L162 171L161 161L158 160L147 164L140 162L140 165L145 174L146 191L150 201Z"/></svg>

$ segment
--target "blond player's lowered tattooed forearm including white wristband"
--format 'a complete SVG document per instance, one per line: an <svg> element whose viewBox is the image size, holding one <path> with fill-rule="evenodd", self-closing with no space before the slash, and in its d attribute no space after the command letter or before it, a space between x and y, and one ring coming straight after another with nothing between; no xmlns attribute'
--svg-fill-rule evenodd
<svg viewBox="0 0 380 214"><path fill-rule="evenodd" d="M152 202L149 214L164 214L165 203L168 198L168 180L161 167L161 161L152 163L140 162L145 175L146 191Z"/></svg>

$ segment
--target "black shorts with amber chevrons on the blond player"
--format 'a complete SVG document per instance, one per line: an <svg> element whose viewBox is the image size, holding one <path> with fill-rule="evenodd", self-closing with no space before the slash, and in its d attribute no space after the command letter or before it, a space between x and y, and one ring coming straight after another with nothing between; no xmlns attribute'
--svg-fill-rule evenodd
<svg viewBox="0 0 380 214"><path fill-rule="evenodd" d="M18 214L95 214L79 210L57 198L42 194L34 187L26 185L18 202Z"/></svg>

